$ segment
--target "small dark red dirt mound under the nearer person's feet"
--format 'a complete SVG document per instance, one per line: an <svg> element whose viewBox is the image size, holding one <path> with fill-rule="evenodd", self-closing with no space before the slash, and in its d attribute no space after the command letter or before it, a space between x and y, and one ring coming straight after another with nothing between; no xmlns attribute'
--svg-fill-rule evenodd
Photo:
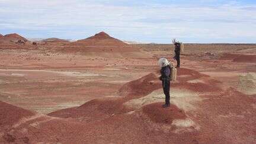
<svg viewBox="0 0 256 144"><path fill-rule="evenodd" d="M172 123L174 119L185 119L185 113L176 105L171 104L169 108L162 108L163 103L153 103L143 106L142 110L152 121L156 123Z"/></svg>

